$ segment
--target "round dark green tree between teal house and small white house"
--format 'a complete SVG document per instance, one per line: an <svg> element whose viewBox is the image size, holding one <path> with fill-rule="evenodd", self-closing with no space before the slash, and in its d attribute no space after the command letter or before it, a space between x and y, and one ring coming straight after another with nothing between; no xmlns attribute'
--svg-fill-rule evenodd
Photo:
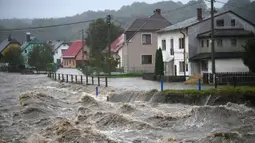
<svg viewBox="0 0 255 143"><path fill-rule="evenodd" d="M47 44L36 46L29 53L28 64L35 67L36 70L46 70L50 63L53 62L52 49Z"/></svg>

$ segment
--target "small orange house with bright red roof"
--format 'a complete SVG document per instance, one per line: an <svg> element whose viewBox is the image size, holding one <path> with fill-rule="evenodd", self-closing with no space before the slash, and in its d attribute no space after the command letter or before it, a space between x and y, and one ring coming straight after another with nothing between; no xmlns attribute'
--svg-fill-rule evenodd
<svg viewBox="0 0 255 143"><path fill-rule="evenodd" d="M85 63L88 63L89 49L87 48L86 44L84 46L83 52L82 40L72 42L69 48L64 51L62 55L64 68L76 68L77 66L83 64L83 60Z"/></svg>

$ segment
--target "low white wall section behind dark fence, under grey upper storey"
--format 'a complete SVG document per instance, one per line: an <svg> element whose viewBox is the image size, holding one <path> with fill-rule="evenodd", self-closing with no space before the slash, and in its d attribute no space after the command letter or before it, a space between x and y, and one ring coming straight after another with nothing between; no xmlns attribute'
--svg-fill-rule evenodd
<svg viewBox="0 0 255 143"><path fill-rule="evenodd" d="M216 59L216 72L248 72L249 68L243 64L242 59ZM208 72L212 73L212 62L208 61Z"/></svg>

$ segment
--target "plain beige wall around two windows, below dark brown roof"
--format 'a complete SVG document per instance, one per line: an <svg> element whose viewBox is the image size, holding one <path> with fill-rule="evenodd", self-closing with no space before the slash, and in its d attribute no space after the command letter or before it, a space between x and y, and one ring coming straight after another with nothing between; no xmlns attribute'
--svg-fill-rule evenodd
<svg viewBox="0 0 255 143"><path fill-rule="evenodd" d="M142 44L142 34L152 34L150 45ZM138 32L123 46L123 66L125 72L154 72L155 54L157 49L156 32ZM152 64L142 64L142 55L152 55Z"/></svg>

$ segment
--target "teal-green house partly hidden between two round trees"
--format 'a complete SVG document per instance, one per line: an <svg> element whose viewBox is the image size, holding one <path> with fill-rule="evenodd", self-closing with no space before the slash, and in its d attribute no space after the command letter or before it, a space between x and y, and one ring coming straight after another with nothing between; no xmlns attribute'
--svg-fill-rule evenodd
<svg viewBox="0 0 255 143"><path fill-rule="evenodd" d="M23 56L24 64L26 68L30 67L28 65L29 53L32 52L34 47L41 46L42 44L43 43L37 38L31 37L29 32L26 33L26 41L21 45L21 54Z"/></svg>

